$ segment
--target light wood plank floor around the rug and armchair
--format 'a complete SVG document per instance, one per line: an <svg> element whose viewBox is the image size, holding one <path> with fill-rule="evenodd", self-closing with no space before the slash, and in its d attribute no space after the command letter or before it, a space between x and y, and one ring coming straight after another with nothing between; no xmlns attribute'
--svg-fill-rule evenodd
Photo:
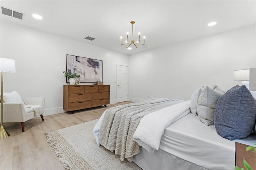
<svg viewBox="0 0 256 170"><path fill-rule="evenodd" d="M74 114L59 113L36 117L25 122L25 132L21 123L4 123L10 136L0 140L0 170L63 170L63 165L54 154L44 137L50 132L100 118L102 113L122 102L76 111Z"/></svg>

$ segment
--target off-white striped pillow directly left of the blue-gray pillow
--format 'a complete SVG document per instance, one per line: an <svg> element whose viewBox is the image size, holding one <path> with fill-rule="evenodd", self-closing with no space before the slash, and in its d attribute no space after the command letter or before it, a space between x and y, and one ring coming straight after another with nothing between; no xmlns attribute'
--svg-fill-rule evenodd
<svg viewBox="0 0 256 170"><path fill-rule="evenodd" d="M219 97L224 94L225 92L217 85L214 85L212 89L208 86L204 88L197 103L197 114L202 123L205 125L214 125L213 121L216 104Z"/></svg>

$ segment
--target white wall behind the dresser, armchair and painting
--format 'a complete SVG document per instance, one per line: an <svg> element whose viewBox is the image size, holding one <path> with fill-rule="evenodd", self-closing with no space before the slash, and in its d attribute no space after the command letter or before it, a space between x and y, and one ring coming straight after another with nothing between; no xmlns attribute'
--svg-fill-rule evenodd
<svg viewBox="0 0 256 170"><path fill-rule="evenodd" d="M45 97L45 115L62 113L66 54L103 60L103 81L116 103L116 64L128 65L128 55L1 21L0 57L15 60L16 73L4 73L4 92Z"/></svg>

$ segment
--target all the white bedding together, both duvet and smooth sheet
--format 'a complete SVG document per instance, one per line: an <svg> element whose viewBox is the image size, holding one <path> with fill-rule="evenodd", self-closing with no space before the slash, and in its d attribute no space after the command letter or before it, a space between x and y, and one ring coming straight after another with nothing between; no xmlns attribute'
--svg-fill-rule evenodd
<svg viewBox="0 0 256 170"><path fill-rule="evenodd" d="M202 168L234 170L235 142L222 138L214 125L206 126L197 116L189 113L188 103L190 101L178 103L144 116L134 139L149 152L159 148ZM104 114L93 129L99 146L98 134ZM248 140L255 140L255 135Z"/></svg>

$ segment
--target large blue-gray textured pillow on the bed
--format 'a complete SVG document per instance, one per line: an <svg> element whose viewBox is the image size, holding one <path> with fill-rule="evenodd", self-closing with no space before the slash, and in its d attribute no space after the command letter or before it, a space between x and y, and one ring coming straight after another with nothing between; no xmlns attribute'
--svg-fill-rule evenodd
<svg viewBox="0 0 256 170"><path fill-rule="evenodd" d="M232 87L217 102L214 125L229 140L247 137L255 127L256 100L245 85Z"/></svg>

